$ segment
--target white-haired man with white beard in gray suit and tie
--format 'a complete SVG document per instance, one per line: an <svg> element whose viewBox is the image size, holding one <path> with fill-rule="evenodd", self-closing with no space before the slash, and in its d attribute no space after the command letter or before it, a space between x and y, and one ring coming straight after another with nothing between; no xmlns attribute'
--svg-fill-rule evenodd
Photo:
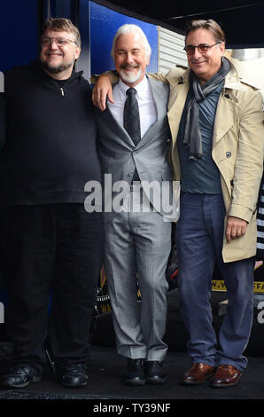
<svg viewBox="0 0 264 417"><path fill-rule="evenodd" d="M167 353L167 344L162 340L167 319L165 273L171 249L171 221L165 221L167 210L161 185L167 182L168 195L173 198L172 172L167 162L169 90L167 85L145 75L151 47L141 28L119 28L112 54L120 80L113 88L113 102L107 103L104 112L97 109L99 154L103 173L111 174L114 184L122 181L128 185L120 211L105 210L103 214L104 264L113 325L117 350L128 358L124 381L130 385L163 383ZM159 208L146 187L151 183L159 185L154 190L161 202ZM114 201L115 195L112 197Z"/></svg>

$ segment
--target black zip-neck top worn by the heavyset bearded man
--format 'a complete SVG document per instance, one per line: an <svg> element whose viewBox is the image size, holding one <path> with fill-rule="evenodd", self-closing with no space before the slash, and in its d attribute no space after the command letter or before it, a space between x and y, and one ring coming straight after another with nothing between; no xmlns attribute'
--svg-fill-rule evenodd
<svg viewBox="0 0 264 417"><path fill-rule="evenodd" d="M61 87L37 63L4 74L0 206L82 203L86 182L101 181L91 90L82 72Z"/></svg>

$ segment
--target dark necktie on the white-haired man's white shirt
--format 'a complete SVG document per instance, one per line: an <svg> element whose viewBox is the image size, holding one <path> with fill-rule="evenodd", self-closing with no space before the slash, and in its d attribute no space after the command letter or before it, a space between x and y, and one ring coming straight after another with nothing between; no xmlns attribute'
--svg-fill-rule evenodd
<svg viewBox="0 0 264 417"><path fill-rule="evenodd" d="M136 90L133 88L128 89L127 96L124 107L124 128L135 145L137 145L141 139L141 132Z"/></svg>

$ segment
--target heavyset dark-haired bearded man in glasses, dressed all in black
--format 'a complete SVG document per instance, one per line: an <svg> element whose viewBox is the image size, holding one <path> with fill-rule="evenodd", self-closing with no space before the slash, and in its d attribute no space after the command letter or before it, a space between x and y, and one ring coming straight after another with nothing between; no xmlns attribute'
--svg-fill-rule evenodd
<svg viewBox="0 0 264 417"><path fill-rule="evenodd" d="M41 380L47 340L59 382L66 387L88 382L89 327L103 238L101 213L84 209L84 185L100 182L101 170L92 89L82 73L74 72L80 52L72 22L50 19L39 60L4 75L1 263L9 293L6 328L13 343L5 388Z"/></svg>

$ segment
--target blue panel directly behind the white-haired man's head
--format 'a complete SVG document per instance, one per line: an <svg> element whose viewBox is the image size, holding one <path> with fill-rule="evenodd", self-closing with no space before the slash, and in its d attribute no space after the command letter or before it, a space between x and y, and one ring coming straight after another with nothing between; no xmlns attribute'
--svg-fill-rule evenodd
<svg viewBox="0 0 264 417"><path fill-rule="evenodd" d="M120 26L133 23L144 30L151 45L151 61L147 68L148 72L158 70L158 29L150 23L136 20L113 12L99 4L90 2L90 59L91 74L101 74L106 70L113 69L113 59L110 55L113 36Z"/></svg>

